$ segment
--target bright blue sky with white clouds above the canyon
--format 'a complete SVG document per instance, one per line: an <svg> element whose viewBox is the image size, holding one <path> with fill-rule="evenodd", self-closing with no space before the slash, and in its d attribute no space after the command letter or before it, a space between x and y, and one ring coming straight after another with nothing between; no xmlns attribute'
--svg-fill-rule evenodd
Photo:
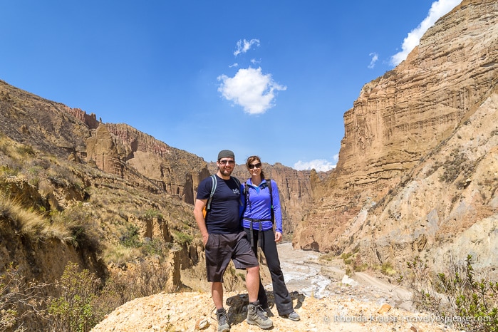
<svg viewBox="0 0 498 332"><path fill-rule="evenodd" d="M337 162L343 114L460 0L2 1L0 79L206 161Z"/></svg>

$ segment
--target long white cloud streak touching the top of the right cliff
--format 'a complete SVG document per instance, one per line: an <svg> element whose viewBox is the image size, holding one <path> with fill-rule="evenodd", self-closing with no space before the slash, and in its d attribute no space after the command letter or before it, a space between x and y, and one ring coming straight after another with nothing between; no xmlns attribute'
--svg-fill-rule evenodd
<svg viewBox="0 0 498 332"><path fill-rule="evenodd" d="M410 53L415 46L420 42L420 37L423 36L425 31L430 28L435 21L440 19L449 11L455 8L457 4L460 4L462 0L439 0L432 3L430 6L429 14L420 23L417 28L414 28L408 33L408 36L403 40L403 45L401 46L402 51L396 53L391 57L390 63L393 66L398 66L402 61L406 59L408 53Z"/></svg>

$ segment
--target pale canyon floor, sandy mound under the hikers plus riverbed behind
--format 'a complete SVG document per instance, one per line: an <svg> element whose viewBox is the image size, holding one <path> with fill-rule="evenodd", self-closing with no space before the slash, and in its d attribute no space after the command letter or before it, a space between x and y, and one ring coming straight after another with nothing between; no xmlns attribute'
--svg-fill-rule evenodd
<svg viewBox="0 0 498 332"><path fill-rule="evenodd" d="M410 304L410 293L388 280L368 274L344 276L341 261L318 260L314 251L279 244L286 284L301 321L278 316L271 285L267 286L274 327L269 331L457 331L439 317L420 313ZM261 331L248 325L244 291L225 292L230 331ZM273 307L272 307L273 306ZM110 313L98 331L217 331L209 292L160 293L130 301Z"/></svg>

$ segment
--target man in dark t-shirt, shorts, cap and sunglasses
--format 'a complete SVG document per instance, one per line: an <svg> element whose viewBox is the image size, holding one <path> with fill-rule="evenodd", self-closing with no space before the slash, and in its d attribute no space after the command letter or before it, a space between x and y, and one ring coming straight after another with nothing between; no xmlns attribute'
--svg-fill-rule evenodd
<svg viewBox="0 0 498 332"><path fill-rule="evenodd" d="M205 247L207 281L211 282L211 296L217 308L218 331L230 331L227 311L223 307L223 274L230 259L236 269L247 269L247 323L264 329L271 328L273 322L264 314L257 301L259 264L240 224L240 183L231 176L235 167L234 152L220 151L216 163L216 189L210 199L209 210L204 217L202 209L211 195L212 177L202 180L197 188L194 217Z"/></svg>

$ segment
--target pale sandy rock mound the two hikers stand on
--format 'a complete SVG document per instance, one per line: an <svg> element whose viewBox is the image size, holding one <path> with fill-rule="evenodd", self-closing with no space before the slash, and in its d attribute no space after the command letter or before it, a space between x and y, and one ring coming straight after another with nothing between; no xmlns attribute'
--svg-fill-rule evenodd
<svg viewBox="0 0 498 332"><path fill-rule="evenodd" d="M261 331L247 324L247 294L229 292L225 294L229 311L230 331ZM308 298L293 294L296 312L301 321L290 321L276 314L271 320L270 331L337 331L337 332L385 332L424 331L454 332L437 318L427 313L410 313L375 301L354 299L353 296L331 296L324 299ZM384 308L390 308L383 312ZM156 294L135 299L110 313L93 332L116 331L217 331L216 315L209 293ZM199 326L207 326L199 328Z"/></svg>

